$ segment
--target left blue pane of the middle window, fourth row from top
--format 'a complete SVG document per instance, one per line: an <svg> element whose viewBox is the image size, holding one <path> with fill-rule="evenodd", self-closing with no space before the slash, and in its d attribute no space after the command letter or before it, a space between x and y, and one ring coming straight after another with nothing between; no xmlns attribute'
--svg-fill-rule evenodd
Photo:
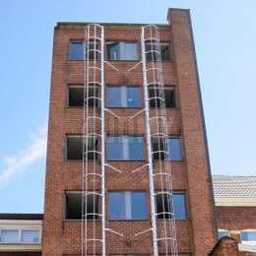
<svg viewBox="0 0 256 256"><path fill-rule="evenodd" d="M109 192L108 193L108 219L124 220L124 193Z"/></svg>

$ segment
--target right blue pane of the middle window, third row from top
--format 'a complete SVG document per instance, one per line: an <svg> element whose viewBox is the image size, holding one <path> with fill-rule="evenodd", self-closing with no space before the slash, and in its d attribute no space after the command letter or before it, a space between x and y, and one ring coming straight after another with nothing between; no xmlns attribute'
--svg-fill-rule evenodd
<svg viewBox="0 0 256 256"><path fill-rule="evenodd" d="M143 137L129 137L129 160L144 160Z"/></svg>

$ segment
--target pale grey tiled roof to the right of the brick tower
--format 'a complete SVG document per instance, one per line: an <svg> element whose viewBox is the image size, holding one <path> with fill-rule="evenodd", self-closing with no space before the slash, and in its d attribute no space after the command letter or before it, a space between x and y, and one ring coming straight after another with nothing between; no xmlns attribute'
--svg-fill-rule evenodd
<svg viewBox="0 0 256 256"><path fill-rule="evenodd" d="M215 197L255 197L256 176L213 175Z"/></svg>

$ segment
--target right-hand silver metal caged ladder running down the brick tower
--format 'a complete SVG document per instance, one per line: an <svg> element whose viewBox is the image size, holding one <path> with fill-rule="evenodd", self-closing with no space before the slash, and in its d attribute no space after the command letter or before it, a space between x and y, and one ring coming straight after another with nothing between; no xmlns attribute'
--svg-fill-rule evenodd
<svg viewBox="0 0 256 256"><path fill-rule="evenodd" d="M142 27L141 44L154 256L159 254L177 256L160 32L156 25ZM153 95L150 95L150 90L153 91ZM152 101L155 104L151 105ZM155 138L158 140L155 141L154 147ZM156 160L157 164L153 165L155 154L160 154L161 157ZM158 205L157 197L160 198ZM160 212L158 212L159 205ZM160 216L163 218L158 224ZM159 241L164 243L164 252L159 249Z"/></svg>

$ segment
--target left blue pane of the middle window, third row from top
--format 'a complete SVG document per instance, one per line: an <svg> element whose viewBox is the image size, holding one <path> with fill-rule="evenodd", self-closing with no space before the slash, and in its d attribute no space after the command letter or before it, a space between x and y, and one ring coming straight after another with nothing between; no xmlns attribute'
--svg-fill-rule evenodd
<svg viewBox="0 0 256 256"><path fill-rule="evenodd" d="M107 138L107 159L123 160L123 141L122 137Z"/></svg>

